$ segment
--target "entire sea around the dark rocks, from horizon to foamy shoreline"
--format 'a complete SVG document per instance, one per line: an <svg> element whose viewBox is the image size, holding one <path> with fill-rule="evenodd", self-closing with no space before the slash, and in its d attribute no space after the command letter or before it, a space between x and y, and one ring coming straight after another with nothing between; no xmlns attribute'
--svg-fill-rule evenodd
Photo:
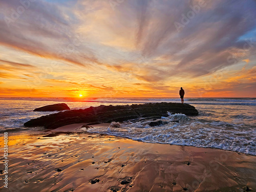
<svg viewBox="0 0 256 192"><path fill-rule="evenodd" d="M24 127L23 123L55 112L33 112L40 106L65 102L71 109L89 106L126 105L148 102L180 102L180 98L0 98L0 133L42 134L42 127ZM256 98L185 98L194 105L198 116L169 114L161 120L162 126L150 127L148 120L127 121L120 127L91 129L89 132L105 133L151 143L191 145L221 148L256 155ZM179 123L172 122L179 120Z"/></svg>

